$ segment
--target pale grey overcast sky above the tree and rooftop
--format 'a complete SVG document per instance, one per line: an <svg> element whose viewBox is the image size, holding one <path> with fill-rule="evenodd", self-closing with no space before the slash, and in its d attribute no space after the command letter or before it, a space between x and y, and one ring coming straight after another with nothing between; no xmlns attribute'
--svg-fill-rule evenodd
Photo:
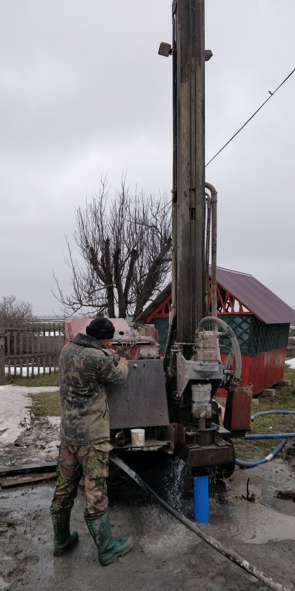
<svg viewBox="0 0 295 591"><path fill-rule="evenodd" d="M205 0L206 161L295 67L294 0ZM0 297L58 310L64 234L109 171L171 190L171 0L0 0ZM214 162L218 265L295 305L295 74Z"/></svg>

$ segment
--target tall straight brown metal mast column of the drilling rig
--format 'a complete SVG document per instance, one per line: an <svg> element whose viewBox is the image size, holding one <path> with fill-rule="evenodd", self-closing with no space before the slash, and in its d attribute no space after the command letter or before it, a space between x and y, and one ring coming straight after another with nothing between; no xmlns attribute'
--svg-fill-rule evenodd
<svg viewBox="0 0 295 591"><path fill-rule="evenodd" d="M175 340L194 343L205 315L204 0L175 0L172 11L172 303L177 309Z"/></svg>

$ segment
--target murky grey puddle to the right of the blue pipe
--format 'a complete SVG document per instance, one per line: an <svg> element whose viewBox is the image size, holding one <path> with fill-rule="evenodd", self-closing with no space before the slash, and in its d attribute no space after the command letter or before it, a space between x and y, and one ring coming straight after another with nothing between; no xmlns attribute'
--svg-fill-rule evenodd
<svg viewBox="0 0 295 591"><path fill-rule="evenodd" d="M295 540L295 517L284 515L260 502L221 505L212 499L210 522L202 529L216 538L230 538L251 544Z"/></svg>

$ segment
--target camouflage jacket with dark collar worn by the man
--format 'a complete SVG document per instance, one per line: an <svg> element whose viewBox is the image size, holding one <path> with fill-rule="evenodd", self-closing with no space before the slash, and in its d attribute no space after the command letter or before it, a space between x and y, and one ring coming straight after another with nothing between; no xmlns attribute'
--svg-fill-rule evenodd
<svg viewBox="0 0 295 591"><path fill-rule="evenodd" d="M109 440L106 385L122 384L128 375L126 365L114 365L113 355L82 333L61 350L61 442L88 445Z"/></svg>

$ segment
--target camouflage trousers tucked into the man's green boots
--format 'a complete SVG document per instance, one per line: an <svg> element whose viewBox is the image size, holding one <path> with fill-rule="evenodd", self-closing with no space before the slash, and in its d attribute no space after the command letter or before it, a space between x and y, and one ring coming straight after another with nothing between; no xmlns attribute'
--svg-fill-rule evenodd
<svg viewBox="0 0 295 591"><path fill-rule="evenodd" d="M107 511L107 485L109 453L112 446L106 441L96 445L77 446L61 443L57 464L57 485L51 512L68 511L74 505L78 483L84 474L86 518Z"/></svg>

